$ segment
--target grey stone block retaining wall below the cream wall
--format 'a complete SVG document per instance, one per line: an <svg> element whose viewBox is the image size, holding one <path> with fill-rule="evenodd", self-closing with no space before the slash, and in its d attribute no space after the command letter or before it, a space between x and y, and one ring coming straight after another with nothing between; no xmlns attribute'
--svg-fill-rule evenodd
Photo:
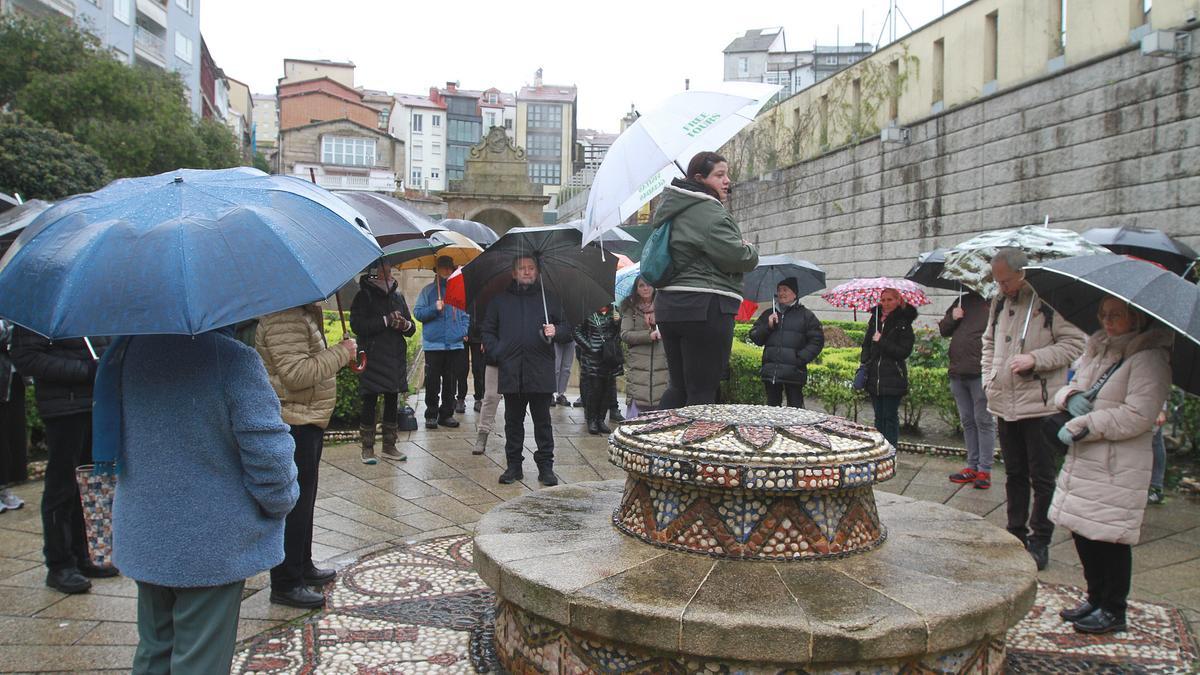
<svg viewBox="0 0 1200 675"><path fill-rule="evenodd" d="M762 253L823 267L830 288L902 276L922 251L1046 215L1075 231L1157 227L1200 249L1200 58L1127 47L908 126L908 145L871 138L738 184L734 217ZM949 300L935 293L925 321Z"/></svg>

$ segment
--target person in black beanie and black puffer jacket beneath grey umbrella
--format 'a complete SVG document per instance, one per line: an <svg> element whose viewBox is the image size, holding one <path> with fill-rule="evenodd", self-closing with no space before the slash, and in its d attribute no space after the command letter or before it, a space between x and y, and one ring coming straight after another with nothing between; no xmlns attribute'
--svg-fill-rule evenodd
<svg viewBox="0 0 1200 675"><path fill-rule="evenodd" d="M824 331L811 310L800 304L794 277L779 282L776 309L758 315L750 329L750 340L763 347L762 383L767 388L767 405L804 407L804 384L809 380L809 364L824 347Z"/></svg>

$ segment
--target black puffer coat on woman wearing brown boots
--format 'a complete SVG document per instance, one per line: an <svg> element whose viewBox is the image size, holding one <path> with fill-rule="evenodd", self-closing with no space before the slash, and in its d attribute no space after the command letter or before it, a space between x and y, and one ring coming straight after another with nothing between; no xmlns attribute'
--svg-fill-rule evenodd
<svg viewBox="0 0 1200 675"><path fill-rule="evenodd" d="M384 323L384 317L400 312L408 319L408 330L401 333ZM350 328L359 348L367 353L367 369L359 376L364 394L395 394L408 392L408 341L416 333L408 303L392 282L384 293L367 276L359 280L359 292L350 305Z"/></svg>

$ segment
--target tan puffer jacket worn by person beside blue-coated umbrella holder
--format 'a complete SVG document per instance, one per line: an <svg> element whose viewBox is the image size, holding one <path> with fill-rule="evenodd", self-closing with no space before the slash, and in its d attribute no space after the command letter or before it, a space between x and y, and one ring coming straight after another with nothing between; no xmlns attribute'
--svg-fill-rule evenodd
<svg viewBox="0 0 1200 675"><path fill-rule="evenodd" d="M337 371L350 356L325 342L320 305L293 307L258 319L254 348L280 396L283 422L328 426L337 401Z"/></svg>

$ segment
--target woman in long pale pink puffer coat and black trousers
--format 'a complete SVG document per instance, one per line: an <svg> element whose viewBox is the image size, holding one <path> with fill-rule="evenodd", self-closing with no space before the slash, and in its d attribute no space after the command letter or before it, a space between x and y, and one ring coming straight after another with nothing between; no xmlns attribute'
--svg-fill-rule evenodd
<svg viewBox="0 0 1200 675"><path fill-rule="evenodd" d="M1073 417L1058 431L1068 449L1050 520L1070 530L1087 580L1087 599L1060 615L1081 633L1126 629L1132 546L1146 509L1156 418L1170 394L1174 340L1121 298L1106 297L1097 316L1103 328L1054 399Z"/></svg>

